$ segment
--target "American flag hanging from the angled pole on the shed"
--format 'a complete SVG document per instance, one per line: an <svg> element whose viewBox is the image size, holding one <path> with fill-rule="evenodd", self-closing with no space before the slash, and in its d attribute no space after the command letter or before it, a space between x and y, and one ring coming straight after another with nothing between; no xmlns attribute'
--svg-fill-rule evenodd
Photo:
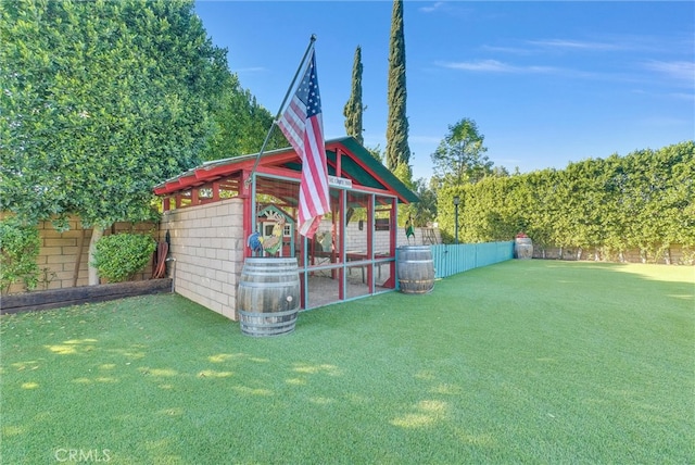
<svg viewBox="0 0 695 465"><path fill-rule="evenodd" d="M278 126L302 160L299 225L300 234L311 239L321 216L330 211L324 120L314 50L302 83L278 120Z"/></svg>

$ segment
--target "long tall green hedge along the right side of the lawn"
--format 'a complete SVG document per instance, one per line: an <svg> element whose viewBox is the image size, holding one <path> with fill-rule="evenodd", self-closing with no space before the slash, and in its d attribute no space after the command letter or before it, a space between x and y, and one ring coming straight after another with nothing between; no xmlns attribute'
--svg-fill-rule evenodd
<svg viewBox="0 0 695 465"><path fill-rule="evenodd" d="M442 183L440 227L454 231L453 197L465 242L510 240L527 232L540 247L620 256L637 248L644 260L671 244L695 246L695 142L641 150L623 158L584 160L476 184Z"/></svg>

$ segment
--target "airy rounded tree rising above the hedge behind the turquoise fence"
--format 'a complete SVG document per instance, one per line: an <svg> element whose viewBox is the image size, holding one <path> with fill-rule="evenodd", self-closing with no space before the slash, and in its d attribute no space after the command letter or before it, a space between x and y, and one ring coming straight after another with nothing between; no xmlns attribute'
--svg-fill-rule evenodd
<svg viewBox="0 0 695 465"><path fill-rule="evenodd" d="M488 151L484 139L473 120L463 118L448 126L448 134L431 154L434 174L453 185L476 183L492 174L493 163L483 155Z"/></svg>

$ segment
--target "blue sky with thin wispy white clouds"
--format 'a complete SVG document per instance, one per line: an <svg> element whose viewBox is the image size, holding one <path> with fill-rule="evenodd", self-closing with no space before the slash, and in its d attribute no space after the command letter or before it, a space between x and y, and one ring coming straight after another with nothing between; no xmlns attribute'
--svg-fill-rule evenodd
<svg viewBox="0 0 695 465"><path fill-rule="evenodd" d="M362 47L365 144L386 148L392 1L197 1L229 67L277 113L312 34L327 139ZM695 2L405 1L415 178L472 118L495 165L522 173L695 138ZM275 130L278 130L277 128Z"/></svg>

